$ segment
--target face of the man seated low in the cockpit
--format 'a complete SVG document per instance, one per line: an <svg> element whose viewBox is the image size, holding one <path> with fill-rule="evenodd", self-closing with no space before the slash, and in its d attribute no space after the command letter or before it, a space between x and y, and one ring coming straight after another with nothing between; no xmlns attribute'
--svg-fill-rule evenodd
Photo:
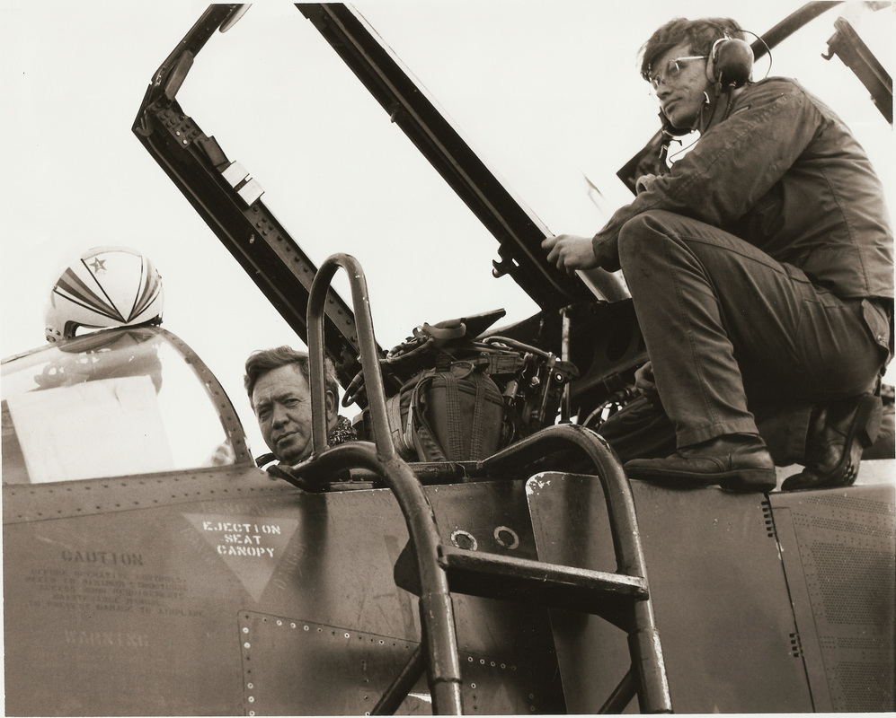
<svg viewBox="0 0 896 718"><path fill-rule="evenodd" d="M311 454L311 388L295 364L262 374L252 403L262 438L279 461L294 465Z"/></svg>

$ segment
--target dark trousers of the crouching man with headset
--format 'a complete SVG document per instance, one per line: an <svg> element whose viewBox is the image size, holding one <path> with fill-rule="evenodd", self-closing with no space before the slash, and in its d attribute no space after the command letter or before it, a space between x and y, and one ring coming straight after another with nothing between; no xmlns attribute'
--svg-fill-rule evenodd
<svg viewBox="0 0 896 718"><path fill-rule="evenodd" d="M855 396L888 359L884 302L840 299L709 224L643 213L623 227L619 260L679 448L758 433L749 404Z"/></svg>

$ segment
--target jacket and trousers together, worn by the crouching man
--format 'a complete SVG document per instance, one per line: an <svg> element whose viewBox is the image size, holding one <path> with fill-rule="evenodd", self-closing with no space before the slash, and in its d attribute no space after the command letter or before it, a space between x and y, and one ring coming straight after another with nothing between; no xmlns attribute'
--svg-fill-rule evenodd
<svg viewBox="0 0 896 718"><path fill-rule="evenodd" d="M593 247L623 269L679 448L758 433L748 397L809 407L873 388L892 355L883 187L793 80L748 85Z"/></svg>

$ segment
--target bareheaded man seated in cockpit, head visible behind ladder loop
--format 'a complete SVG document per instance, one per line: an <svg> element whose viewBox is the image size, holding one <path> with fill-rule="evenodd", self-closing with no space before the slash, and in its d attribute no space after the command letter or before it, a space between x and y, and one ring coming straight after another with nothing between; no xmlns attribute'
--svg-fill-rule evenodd
<svg viewBox="0 0 896 718"><path fill-rule="evenodd" d="M260 466L276 459L295 466L313 449L311 386L308 355L289 346L253 352L245 363L245 390L262 438L271 450L258 459ZM327 443L330 446L358 438L345 416L339 416L339 383L333 363L324 360Z"/></svg>

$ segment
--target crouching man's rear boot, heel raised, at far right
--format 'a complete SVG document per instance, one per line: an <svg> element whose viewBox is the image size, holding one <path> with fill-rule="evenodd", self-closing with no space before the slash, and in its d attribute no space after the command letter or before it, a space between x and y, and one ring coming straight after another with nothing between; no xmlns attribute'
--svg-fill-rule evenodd
<svg viewBox="0 0 896 718"><path fill-rule="evenodd" d="M851 486L862 451L881 430L882 415L881 398L871 393L813 409L805 468L787 477L781 490Z"/></svg>

